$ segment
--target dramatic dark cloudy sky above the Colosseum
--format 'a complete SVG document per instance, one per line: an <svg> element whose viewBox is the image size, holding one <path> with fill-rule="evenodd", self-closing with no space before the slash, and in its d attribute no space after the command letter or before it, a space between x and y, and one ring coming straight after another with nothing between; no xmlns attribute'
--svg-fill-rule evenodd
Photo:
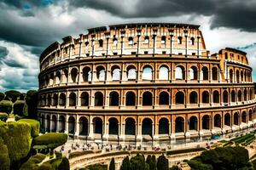
<svg viewBox="0 0 256 170"><path fill-rule="evenodd" d="M0 91L38 88L38 56L62 37L128 22L201 25L207 48L247 52L256 81L255 0L0 0Z"/></svg>

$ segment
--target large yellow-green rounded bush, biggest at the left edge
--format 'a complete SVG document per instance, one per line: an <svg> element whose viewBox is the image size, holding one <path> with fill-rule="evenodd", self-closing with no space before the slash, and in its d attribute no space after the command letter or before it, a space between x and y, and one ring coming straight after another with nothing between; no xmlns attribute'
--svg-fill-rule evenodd
<svg viewBox="0 0 256 170"><path fill-rule="evenodd" d="M0 137L9 150L11 168L20 167L20 160L25 158L32 144L31 130L27 123L0 123Z"/></svg>

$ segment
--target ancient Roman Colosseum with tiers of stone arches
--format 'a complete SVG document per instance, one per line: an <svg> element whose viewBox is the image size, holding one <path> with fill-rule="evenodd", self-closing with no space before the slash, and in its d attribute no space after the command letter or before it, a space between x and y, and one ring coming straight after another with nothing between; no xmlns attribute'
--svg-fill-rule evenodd
<svg viewBox="0 0 256 170"><path fill-rule="evenodd" d="M42 127L73 139L135 143L254 127L246 53L223 48L210 54L199 27L103 26L49 45L38 76Z"/></svg>

